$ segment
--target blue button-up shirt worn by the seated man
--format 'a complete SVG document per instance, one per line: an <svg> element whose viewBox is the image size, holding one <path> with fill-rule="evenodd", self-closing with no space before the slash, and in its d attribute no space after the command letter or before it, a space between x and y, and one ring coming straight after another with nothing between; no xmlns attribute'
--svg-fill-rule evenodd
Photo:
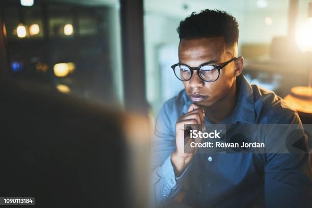
<svg viewBox="0 0 312 208"><path fill-rule="evenodd" d="M273 92L250 85L243 75L238 77L237 86L236 107L221 123L301 124L297 112ZM157 118L151 149L153 205L173 200L188 178L184 202L194 207L312 206L306 153L196 154L184 173L175 177L171 163L176 148L175 123L191 103L182 90L164 103ZM205 122L210 123L207 117Z"/></svg>

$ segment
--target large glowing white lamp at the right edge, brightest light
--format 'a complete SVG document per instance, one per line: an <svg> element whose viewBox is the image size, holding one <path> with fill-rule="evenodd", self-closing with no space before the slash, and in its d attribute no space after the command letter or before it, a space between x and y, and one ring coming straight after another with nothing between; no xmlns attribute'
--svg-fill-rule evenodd
<svg viewBox="0 0 312 208"><path fill-rule="evenodd" d="M312 52L312 17L299 27L296 40L301 50Z"/></svg>

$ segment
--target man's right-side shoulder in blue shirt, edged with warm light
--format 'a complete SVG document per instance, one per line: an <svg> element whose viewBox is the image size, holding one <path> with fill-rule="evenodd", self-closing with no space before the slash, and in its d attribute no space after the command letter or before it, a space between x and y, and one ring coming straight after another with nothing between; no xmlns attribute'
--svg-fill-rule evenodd
<svg viewBox="0 0 312 208"><path fill-rule="evenodd" d="M274 92L251 85L258 123L301 123L298 113Z"/></svg>

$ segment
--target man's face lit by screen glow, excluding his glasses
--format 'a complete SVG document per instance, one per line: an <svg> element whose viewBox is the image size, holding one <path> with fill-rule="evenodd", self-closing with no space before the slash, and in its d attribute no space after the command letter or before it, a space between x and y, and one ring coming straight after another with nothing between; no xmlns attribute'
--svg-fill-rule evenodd
<svg viewBox="0 0 312 208"><path fill-rule="evenodd" d="M190 67L198 67L205 62L219 66L235 54L235 47L228 48L222 37L182 39L179 44L179 63ZM210 107L227 96L235 85L234 61L220 70L215 82L204 82L194 71L191 80L183 82L190 99L200 106Z"/></svg>

